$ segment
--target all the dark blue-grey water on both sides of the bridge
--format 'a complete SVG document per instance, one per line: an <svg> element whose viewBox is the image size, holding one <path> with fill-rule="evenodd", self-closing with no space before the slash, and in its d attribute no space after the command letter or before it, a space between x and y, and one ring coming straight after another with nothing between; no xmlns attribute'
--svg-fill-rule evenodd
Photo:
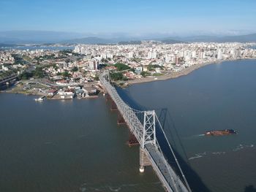
<svg viewBox="0 0 256 192"><path fill-rule="evenodd" d="M118 88L156 110L193 191L256 188L256 61L227 61L174 80ZM0 191L163 191L103 96L34 101L0 93ZM212 129L236 135L204 137Z"/></svg>

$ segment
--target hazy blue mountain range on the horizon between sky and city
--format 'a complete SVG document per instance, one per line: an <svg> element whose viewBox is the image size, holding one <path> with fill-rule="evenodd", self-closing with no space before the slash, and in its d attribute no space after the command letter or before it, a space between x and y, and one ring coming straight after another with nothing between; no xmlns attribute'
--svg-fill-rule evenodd
<svg viewBox="0 0 256 192"><path fill-rule="evenodd" d="M114 37L113 37L114 36ZM238 36L192 36L192 37L132 37L126 34L102 35L58 31L0 31L0 44L140 44L142 40L156 40L166 44L180 42L256 42L256 34Z"/></svg>

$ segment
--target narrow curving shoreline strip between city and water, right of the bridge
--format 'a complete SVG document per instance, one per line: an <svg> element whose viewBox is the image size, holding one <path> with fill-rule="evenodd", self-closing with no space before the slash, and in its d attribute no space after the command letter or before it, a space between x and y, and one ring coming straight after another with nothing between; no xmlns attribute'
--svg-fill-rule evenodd
<svg viewBox="0 0 256 192"><path fill-rule="evenodd" d="M196 65L193 65L193 66L189 66L185 69L181 69L181 71L179 71L179 72L170 72L168 74L163 74L161 76L156 76L156 77L150 76L150 77L143 77L141 79L136 79L136 80L128 80L127 82L125 82L128 85L118 85L118 86L121 87L121 88L127 88L131 85L145 83L145 82L154 82L154 81L176 79L178 77L188 75L191 72L194 72L195 70L202 68L203 66L208 66L208 65L211 65L211 64L222 64L225 61L239 61L239 60L246 60L246 59L253 60L253 59L256 59L256 58L237 58L237 59L227 59L227 60L223 60L223 61L206 61L202 64L196 64ZM155 78L157 78L157 79L155 79Z"/></svg>

